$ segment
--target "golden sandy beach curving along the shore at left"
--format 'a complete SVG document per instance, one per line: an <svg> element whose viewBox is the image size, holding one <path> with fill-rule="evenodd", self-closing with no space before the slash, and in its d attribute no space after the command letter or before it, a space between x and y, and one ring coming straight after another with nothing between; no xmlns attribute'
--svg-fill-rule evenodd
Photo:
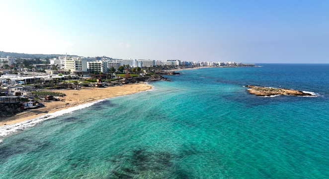
<svg viewBox="0 0 329 179"><path fill-rule="evenodd" d="M3 126L3 124L12 124L27 119L35 118L43 114L52 113L58 110L66 109L69 107L73 107L79 104L91 102L98 99L125 95L125 94L132 94L148 89L152 89L152 87L144 83L139 83L139 84L129 84L129 85L116 86L116 87L107 87L107 88L82 87L82 89L80 90L76 90L76 89L56 90L65 93L66 96L59 97L60 101L42 102L43 104L45 104L45 107L29 109L11 117L0 118L0 126Z"/></svg>

